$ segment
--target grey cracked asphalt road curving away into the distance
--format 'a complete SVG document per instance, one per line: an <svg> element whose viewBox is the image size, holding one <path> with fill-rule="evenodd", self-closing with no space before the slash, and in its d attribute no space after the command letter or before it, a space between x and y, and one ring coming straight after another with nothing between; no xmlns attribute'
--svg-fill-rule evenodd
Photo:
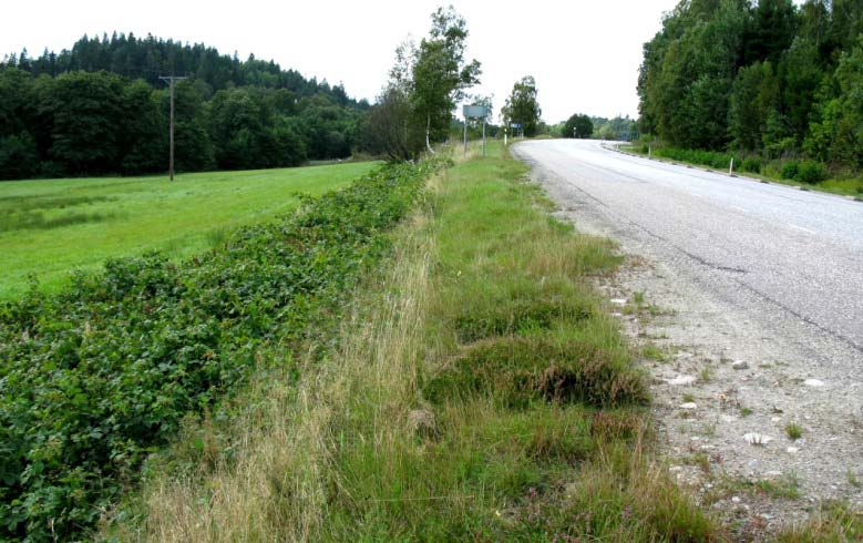
<svg viewBox="0 0 863 543"><path fill-rule="evenodd" d="M661 260L813 361L863 361L863 203L594 141L523 142L513 152L588 229ZM863 378L852 367L846 375Z"/></svg>

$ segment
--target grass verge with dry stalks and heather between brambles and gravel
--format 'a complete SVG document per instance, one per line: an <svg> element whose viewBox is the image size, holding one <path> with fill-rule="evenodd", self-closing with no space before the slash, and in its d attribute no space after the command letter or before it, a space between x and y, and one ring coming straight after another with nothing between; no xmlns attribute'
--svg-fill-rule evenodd
<svg viewBox="0 0 863 543"><path fill-rule="evenodd" d="M154 461L105 534L722 539L650 461L645 378L589 280L613 247L549 218L525 166L489 155L435 180L322 361L261 378L212 448Z"/></svg>

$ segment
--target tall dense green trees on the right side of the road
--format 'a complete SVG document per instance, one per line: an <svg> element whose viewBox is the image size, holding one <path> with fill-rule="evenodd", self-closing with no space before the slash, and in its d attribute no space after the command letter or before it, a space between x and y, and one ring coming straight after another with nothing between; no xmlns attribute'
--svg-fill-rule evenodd
<svg viewBox="0 0 863 543"><path fill-rule="evenodd" d="M684 0L644 47L640 130L863 168L863 2Z"/></svg>

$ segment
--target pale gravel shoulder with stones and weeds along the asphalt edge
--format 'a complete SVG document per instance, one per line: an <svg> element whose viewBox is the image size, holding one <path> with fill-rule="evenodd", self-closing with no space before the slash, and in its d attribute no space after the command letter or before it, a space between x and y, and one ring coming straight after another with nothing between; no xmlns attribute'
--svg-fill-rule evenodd
<svg viewBox="0 0 863 543"><path fill-rule="evenodd" d="M532 164L559 218L627 255L599 286L644 347L661 452L680 484L748 540L805 520L823 500L863 510L860 350L514 154Z"/></svg>

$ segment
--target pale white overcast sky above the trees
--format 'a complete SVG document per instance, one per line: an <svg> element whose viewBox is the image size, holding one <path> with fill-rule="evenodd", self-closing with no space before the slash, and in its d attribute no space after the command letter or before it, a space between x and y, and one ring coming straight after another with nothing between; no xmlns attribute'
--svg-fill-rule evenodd
<svg viewBox="0 0 863 543"><path fill-rule="evenodd" d="M641 45L678 0L117 0L16 1L3 6L0 57L27 48L71 48L84 34L134 32L215 47L240 59L275 60L307 78L342 83L370 102L380 92L399 43L428 35L430 14L452 3L468 22L468 58L482 63L482 84L499 110L513 83L533 75L543 120L573 113L638 115L635 86ZM495 120L496 120L495 113Z"/></svg>

